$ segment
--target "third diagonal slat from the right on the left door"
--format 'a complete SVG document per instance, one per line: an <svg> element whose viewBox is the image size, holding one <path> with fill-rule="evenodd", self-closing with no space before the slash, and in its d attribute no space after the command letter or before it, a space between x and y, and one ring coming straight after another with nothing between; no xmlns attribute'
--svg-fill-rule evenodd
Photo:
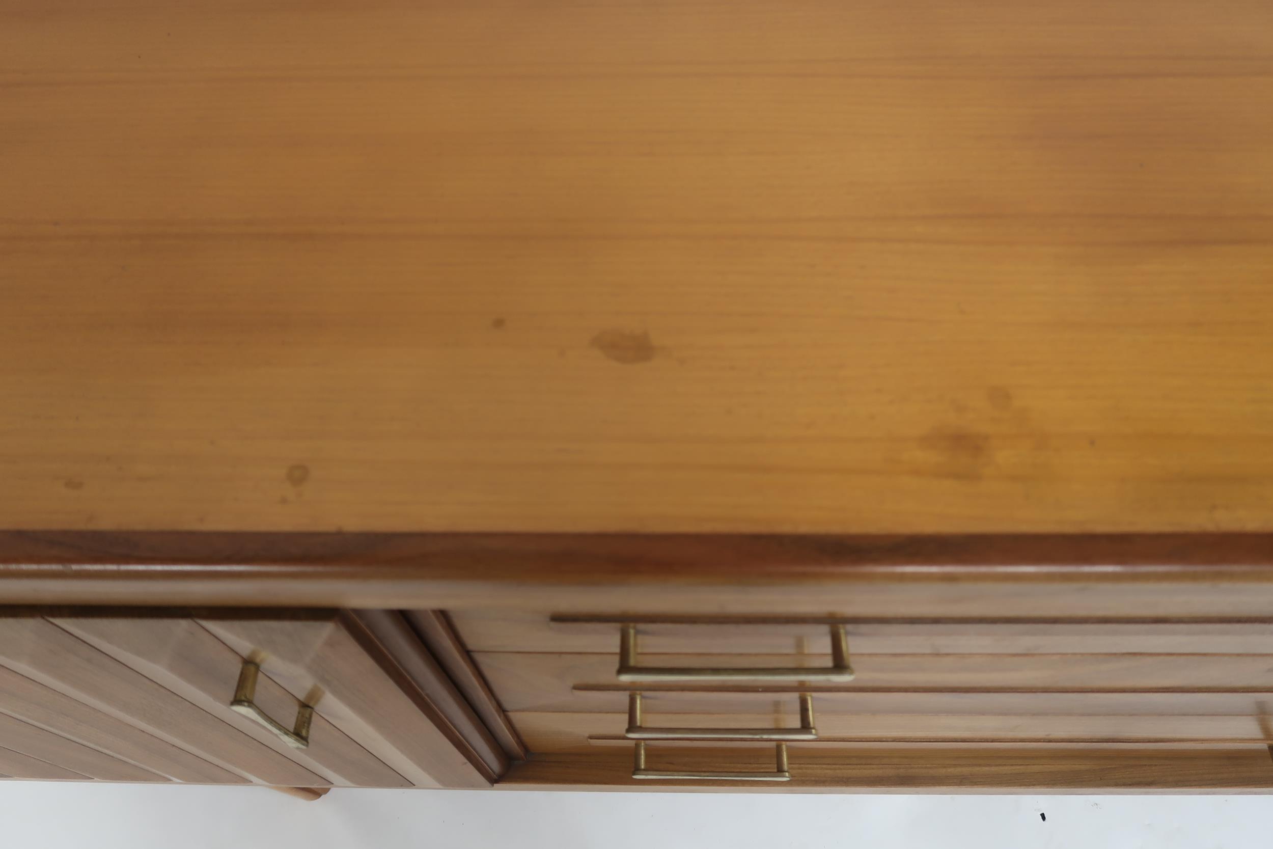
<svg viewBox="0 0 1273 849"><path fill-rule="evenodd" d="M262 784L327 784L47 620L0 617L0 664Z"/></svg>

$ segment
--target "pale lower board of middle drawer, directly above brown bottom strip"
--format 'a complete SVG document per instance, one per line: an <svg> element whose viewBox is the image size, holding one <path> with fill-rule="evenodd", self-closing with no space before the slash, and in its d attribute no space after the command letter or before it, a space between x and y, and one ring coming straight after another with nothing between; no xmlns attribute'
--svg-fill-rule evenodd
<svg viewBox="0 0 1273 849"><path fill-rule="evenodd" d="M815 710L817 708L815 699ZM512 720L532 752L587 752L594 746L628 746L628 718L614 713L513 713ZM648 713L644 724L676 728L784 728L798 724L791 713L661 714ZM855 743L1263 743L1273 742L1269 717L1153 717L1125 715L1004 715L1004 714L817 714L816 742L789 743L796 748L824 748ZM719 746L773 743L728 741ZM696 746L701 741L652 741L651 746Z"/></svg>

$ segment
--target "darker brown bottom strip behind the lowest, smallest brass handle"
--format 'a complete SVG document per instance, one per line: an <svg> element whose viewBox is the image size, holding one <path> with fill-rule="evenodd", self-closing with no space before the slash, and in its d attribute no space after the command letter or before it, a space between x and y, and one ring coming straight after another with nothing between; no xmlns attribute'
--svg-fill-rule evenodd
<svg viewBox="0 0 1273 849"><path fill-rule="evenodd" d="M768 757L766 757L768 755ZM773 754L755 748L651 747L651 769L773 769ZM631 754L598 748L591 755L533 756L513 768L502 789L615 789L679 792L1267 792L1273 760L1265 746L1158 750L1142 747L862 747L793 748L792 780L771 787L750 782L653 782L631 778Z"/></svg>

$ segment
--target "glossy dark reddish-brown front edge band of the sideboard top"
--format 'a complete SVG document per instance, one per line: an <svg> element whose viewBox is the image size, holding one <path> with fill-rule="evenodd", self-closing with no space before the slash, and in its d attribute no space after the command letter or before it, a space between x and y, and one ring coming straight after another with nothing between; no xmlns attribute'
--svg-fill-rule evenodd
<svg viewBox="0 0 1273 849"><path fill-rule="evenodd" d="M5 577L410 577L625 583L1118 574L1273 579L1273 533L746 536L0 531Z"/></svg>

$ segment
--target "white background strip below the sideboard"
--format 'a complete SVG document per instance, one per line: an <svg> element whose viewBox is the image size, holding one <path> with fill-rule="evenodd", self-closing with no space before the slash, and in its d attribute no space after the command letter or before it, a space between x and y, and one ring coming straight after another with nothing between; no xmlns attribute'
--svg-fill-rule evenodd
<svg viewBox="0 0 1273 849"><path fill-rule="evenodd" d="M1268 849L1270 817L1270 797L332 790L302 802L0 782L14 849Z"/></svg>

